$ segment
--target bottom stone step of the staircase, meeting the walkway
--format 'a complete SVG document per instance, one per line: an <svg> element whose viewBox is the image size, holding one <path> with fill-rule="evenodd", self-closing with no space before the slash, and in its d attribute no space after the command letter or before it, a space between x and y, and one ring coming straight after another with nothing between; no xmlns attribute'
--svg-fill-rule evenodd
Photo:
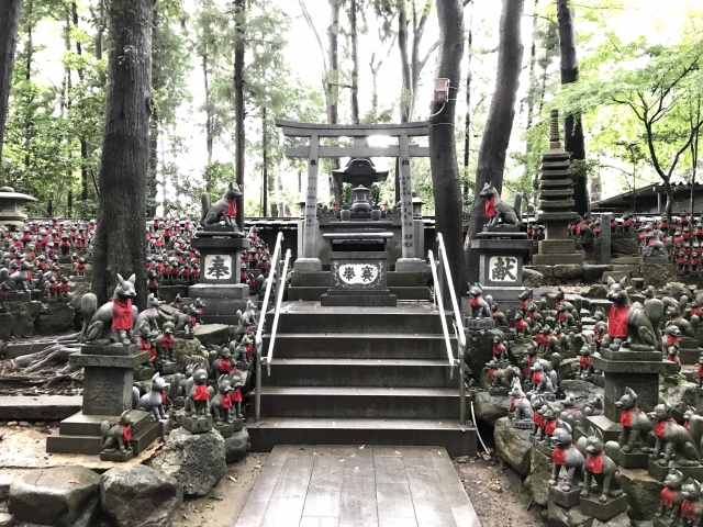
<svg viewBox="0 0 703 527"><path fill-rule="evenodd" d="M450 457L476 456L471 423L453 419L261 418L247 423L252 451L269 452L275 445L439 446Z"/></svg>

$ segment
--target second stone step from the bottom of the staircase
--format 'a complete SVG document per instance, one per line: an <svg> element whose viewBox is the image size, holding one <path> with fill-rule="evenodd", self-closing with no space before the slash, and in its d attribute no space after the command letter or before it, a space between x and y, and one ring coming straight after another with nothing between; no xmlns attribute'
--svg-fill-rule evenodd
<svg viewBox="0 0 703 527"><path fill-rule="evenodd" d="M261 416L456 419L459 389L261 386Z"/></svg>

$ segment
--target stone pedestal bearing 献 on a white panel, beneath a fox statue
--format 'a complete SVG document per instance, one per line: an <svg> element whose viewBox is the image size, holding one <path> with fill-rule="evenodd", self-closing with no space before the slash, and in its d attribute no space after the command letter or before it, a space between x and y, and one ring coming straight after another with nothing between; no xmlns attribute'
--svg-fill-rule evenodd
<svg viewBox="0 0 703 527"><path fill-rule="evenodd" d="M503 312L520 306L523 259L532 247L527 234L510 226L484 229L471 240L471 248L480 253L479 282L483 296L490 294Z"/></svg>

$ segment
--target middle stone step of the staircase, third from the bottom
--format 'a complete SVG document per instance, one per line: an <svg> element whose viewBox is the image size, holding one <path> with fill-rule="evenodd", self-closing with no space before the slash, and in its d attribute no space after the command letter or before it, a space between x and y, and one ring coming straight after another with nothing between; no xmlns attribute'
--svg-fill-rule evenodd
<svg viewBox="0 0 703 527"><path fill-rule="evenodd" d="M280 359L271 361L267 386L458 386L448 359Z"/></svg>

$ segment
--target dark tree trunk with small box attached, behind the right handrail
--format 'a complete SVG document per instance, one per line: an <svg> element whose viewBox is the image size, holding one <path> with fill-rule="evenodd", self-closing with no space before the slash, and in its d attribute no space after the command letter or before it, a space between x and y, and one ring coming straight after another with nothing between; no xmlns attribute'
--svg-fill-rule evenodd
<svg viewBox="0 0 703 527"><path fill-rule="evenodd" d="M445 0L437 3L440 44L436 77L449 79L450 86L457 88L461 85L461 57L464 56L462 11L461 0ZM439 104L433 104L433 106L432 113L439 112ZM444 236L446 256L458 296L466 290L466 274L461 265L461 184L454 136L455 115L456 97L450 97L444 110L431 117L429 159L435 195L436 229ZM435 287L440 285L435 284ZM446 287L442 287L442 290L445 292L444 299L447 304L448 290Z"/></svg>

